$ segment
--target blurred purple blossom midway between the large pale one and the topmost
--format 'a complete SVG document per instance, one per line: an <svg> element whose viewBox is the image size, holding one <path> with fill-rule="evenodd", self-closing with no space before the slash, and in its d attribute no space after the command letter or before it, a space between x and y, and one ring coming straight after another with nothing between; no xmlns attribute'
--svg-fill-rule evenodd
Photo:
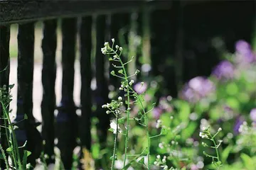
<svg viewBox="0 0 256 170"><path fill-rule="evenodd" d="M232 79L234 77L234 67L233 64L228 62L228 60L224 60L220 62L215 69L213 69L213 76L217 77L217 79Z"/></svg>

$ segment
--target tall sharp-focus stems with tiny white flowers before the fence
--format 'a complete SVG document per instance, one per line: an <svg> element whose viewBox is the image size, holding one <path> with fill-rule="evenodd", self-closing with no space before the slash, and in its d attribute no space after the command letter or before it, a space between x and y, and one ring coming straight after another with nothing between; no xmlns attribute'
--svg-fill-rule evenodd
<svg viewBox="0 0 256 170"><path fill-rule="evenodd" d="M121 108L122 106L122 97L119 96L117 101L112 100L111 103L107 103L106 105L103 105L102 108L107 108L107 114L113 113L116 117L116 123L114 123L112 121L112 123L110 124L110 130L112 132L114 132L115 134L115 138L114 138L114 151L113 151L113 156L112 156L112 166L111 169L114 169L114 161L117 158L116 157L116 150L117 150L117 133L122 132L122 130L120 130L119 128L119 123L124 123L124 120L126 120L126 130L124 132L124 136L125 136L125 143L124 143L124 164L123 167L127 166L127 154L128 154L128 142L129 142L129 120L130 118L130 106L132 104L138 104L139 106L142 107L143 110L143 115L142 117L144 117L144 123L139 123L140 125L143 125L146 128L146 136L147 136L147 149L149 150L150 148L150 138L149 137L149 130L148 130L148 118L147 118L147 113L144 109L143 103L142 103L142 98L139 94L137 94L136 91L134 91L134 89L132 88L132 85L134 84L134 80L130 80L129 79L131 77L136 76L137 74L139 74L139 70L136 70L136 72L132 75L128 75L127 74L127 70L125 69L125 65L129 64L129 62L132 62L133 57L131 60L129 60L128 62L123 62L121 59L121 55L122 55L122 47L119 47L118 45L114 46L114 39L112 39L112 47L110 47L109 42L105 42L104 44L105 47L102 47L102 54L104 55L112 55L109 57L109 60L111 62L117 63L117 64L112 64L113 67L119 69L118 72L110 72L110 74L112 74L112 76L114 77L118 77L119 79L121 79L121 86L119 87L120 91L125 91L126 94L124 95L126 100L125 100L125 105L126 105L126 109ZM142 84L143 86L143 84ZM131 98L134 98L135 100L132 102ZM126 114L126 118L120 118L118 119L118 115L125 113ZM132 119L131 119L132 120ZM136 120L141 120L141 119L136 119ZM143 154L144 152L142 152ZM141 154L141 155L142 155ZM148 152L147 154L148 157L148 165L147 169L150 169L150 152Z"/></svg>

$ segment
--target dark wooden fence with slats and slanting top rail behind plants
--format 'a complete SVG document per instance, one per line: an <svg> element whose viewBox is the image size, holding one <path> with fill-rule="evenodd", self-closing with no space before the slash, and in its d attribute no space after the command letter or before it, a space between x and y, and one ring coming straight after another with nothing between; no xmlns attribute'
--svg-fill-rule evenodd
<svg viewBox="0 0 256 170"><path fill-rule="evenodd" d="M110 117L101 106L109 101L108 84L117 88L117 80L105 77L105 59L100 48L110 38L116 38L119 43L118 30L130 25L131 13L137 13L137 33L144 38L142 42L150 40L150 74L162 75L167 93L174 97L184 81L196 75L207 76L220 60L216 57L218 50L211 45L212 38L224 38L228 50L232 51L235 40L242 38L250 42L255 24L253 1L0 1L0 6L0 70L7 66L0 74L0 86L9 85L10 25L18 23L18 98L15 121L23 120L25 113L28 116L27 120L18 123L18 142L22 145L28 141L26 149L32 152L28 157L31 164L36 164L35 160L42 150L50 156L47 162L49 164L54 162L53 147L57 137L65 169L71 167L73 149L78 145L77 137L80 137L82 147L91 148L92 103L97 105L95 115L100 120L97 125L98 135L102 147L105 146ZM90 84L93 75L92 16L95 14L97 89L93 92ZM56 106L55 51L58 18L62 20L63 81L61 102ZM43 20L41 133L36 130L38 123L32 113L32 91L36 88L33 87L34 23L39 20ZM149 24L148 27L143 27L146 23ZM73 100L77 33L80 39L80 106L75 106ZM150 33L151 37L146 37L146 33ZM126 42L127 36L125 35ZM141 65L137 60L137 67ZM76 114L78 109L81 111L80 118ZM53 114L55 110L58 110L56 118ZM1 111L1 116L2 114ZM1 128L1 144L6 146L3 129ZM42 145L42 140L45 140L45 145ZM1 167L4 167L3 162Z"/></svg>

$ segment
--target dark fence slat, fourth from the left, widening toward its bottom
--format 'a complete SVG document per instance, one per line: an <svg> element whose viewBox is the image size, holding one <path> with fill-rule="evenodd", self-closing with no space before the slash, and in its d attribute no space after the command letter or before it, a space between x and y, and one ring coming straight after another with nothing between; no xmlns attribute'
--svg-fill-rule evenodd
<svg viewBox="0 0 256 170"><path fill-rule="evenodd" d="M77 19L66 18L61 23L63 46L62 46L62 98L58 108L57 137L60 156L65 169L71 169L73 162L73 149L75 139L78 136L78 118L75 113L76 107L73 99L74 74L75 74L75 42L77 33Z"/></svg>

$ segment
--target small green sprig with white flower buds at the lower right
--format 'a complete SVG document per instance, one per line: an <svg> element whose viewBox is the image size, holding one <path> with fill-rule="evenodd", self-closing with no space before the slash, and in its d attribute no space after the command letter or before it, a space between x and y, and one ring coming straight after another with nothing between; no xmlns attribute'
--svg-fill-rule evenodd
<svg viewBox="0 0 256 170"><path fill-rule="evenodd" d="M222 166L222 163L220 162L220 157L218 154L218 147L220 147L221 143L223 142L223 140L218 140L218 143L215 142L215 137L216 135L218 135L218 133L221 131L221 128L218 128L218 131L215 133L215 135L211 135L210 133L210 125L208 125L207 127L204 127L202 132L199 133L199 136L203 139L207 139L210 140L211 142L213 142L213 146L208 145L206 142L202 142L203 147L210 147L215 149L216 152L216 156L207 154L205 151L203 151L203 154L206 155L206 157L210 157L213 159L213 164L219 168L220 166Z"/></svg>

